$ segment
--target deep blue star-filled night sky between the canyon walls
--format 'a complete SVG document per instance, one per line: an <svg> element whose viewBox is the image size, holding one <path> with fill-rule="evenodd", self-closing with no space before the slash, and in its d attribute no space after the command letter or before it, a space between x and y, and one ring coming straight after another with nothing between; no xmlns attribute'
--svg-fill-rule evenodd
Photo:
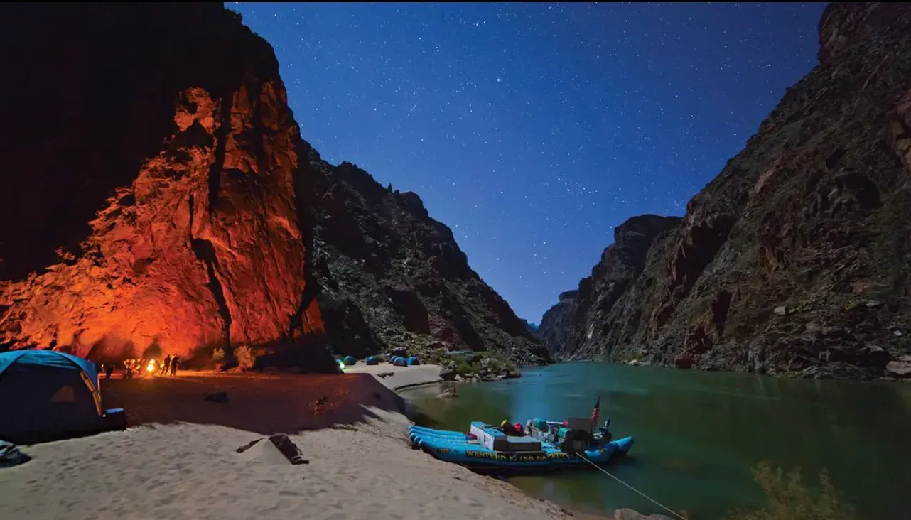
<svg viewBox="0 0 911 520"><path fill-rule="evenodd" d="M824 4L235 4L302 135L417 192L538 322L613 228L682 215L816 63Z"/></svg>

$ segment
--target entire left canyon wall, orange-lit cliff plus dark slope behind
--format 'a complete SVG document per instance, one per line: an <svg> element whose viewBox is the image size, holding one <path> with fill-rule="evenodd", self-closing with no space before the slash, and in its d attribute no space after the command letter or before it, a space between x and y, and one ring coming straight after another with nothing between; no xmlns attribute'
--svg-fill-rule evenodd
<svg viewBox="0 0 911 520"><path fill-rule="evenodd" d="M301 138L239 15L21 4L5 25L0 350L549 361L415 193Z"/></svg>

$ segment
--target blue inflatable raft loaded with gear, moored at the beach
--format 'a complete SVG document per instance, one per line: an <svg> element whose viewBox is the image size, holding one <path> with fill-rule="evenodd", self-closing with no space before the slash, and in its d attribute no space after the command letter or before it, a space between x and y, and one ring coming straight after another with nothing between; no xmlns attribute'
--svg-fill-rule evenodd
<svg viewBox="0 0 911 520"><path fill-rule="evenodd" d="M408 433L413 444L441 461L496 473L591 467L586 459L593 464L607 464L612 458L627 454L633 444L632 437L609 440L609 434L603 434L605 428L600 429L602 434L591 435L563 423L546 423L546 432L536 427L525 436L507 435L496 426L481 422L471 423L469 433L416 425L409 426ZM553 442L548 438L553 438Z"/></svg>

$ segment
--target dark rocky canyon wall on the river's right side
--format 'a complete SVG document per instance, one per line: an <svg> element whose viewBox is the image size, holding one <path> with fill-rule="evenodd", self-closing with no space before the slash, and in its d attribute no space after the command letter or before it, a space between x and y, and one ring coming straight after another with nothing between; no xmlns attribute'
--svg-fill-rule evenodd
<svg viewBox="0 0 911 520"><path fill-rule="evenodd" d="M564 356L911 375L911 8L830 4L819 32L819 65L638 277L580 283L568 331L546 331Z"/></svg>

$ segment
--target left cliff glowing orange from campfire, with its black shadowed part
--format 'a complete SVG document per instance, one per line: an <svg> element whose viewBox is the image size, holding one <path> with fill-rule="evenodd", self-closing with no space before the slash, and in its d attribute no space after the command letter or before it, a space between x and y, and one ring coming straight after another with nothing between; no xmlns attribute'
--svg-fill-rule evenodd
<svg viewBox="0 0 911 520"><path fill-rule="evenodd" d="M6 21L35 46L7 69L0 342L186 358L322 331L302 141L268 44L220 5L18 5Z"/></svg>

